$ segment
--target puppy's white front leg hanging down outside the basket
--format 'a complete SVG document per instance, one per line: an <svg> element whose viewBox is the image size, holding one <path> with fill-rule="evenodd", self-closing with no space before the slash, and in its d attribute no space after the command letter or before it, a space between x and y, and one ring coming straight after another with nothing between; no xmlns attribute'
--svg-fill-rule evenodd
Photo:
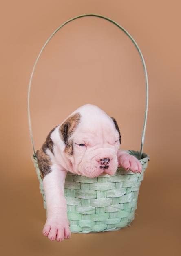
<svg viewBox="0 0 181 256"><path fill-rule="evenodd" d="M47 208L43 234L51 241L61 242L71 236L64 197L66 171L61 171L54 165L51 170L43 179Z"/></svg>

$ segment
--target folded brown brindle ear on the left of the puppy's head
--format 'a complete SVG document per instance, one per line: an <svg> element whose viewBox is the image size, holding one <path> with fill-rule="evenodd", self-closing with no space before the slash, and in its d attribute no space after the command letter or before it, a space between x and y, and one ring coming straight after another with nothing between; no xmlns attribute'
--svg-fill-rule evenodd
<svg viewBox="0 0 181 256"><path fill-rule="evenodd" d="M79 124L80 117L81 115L76 113L75 115L68 117L68 119L66 119L60 126L59 134L61 139L64 141L64 144L67 143L69 136L75 131L77 125Z"/></svg>

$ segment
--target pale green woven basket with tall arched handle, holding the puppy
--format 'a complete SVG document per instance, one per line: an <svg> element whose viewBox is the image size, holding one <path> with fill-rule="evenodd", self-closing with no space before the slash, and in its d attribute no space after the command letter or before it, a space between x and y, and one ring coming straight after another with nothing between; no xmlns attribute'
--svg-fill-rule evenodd
<svg viewBox="0 0 181 256"><path fill-rule="evenodd" d="M71 232L75 233L91 233L91 232L102 232L102 231L113 231L123 227L129 226L135 216L135 210L137 209L137 199L141 181L143 180L144 171L147 167L150 159L149 155L143 153L143 144L146 129L146 119L148 112L148 76L146 72L146 65L143 59L143 55L135 42L135 40L128 34L128 32L121 27L117 22L97 14L83 14L76 16L66 22L64 22L50 38L46 41L43 46L36 62L33 67L31 79L29 82L28 92L28 115L29 115L29 128L31 135L31 142L33 146L32 160L36 167L36 173L40 182L40 193L43 196L44 208L46 209L46 198L44 193L43 181L38 168L37 158L35 155L35 148L33 143L33 136L31 130L31 119L30 119L30 89L33 73L42 54L45 46L55 35L68 22L71 22L77 18L85 16L96 16L104 18L117 25L122 31L124 31L134 43L137 48L141 61L143 63L144 74L146 79L146 109L145 118L143 125L143 132L141 137L141 150L140 151L127 151L131 155L134 155L139 159L143 166L141 174L132 173L131 171L125 171L121 168L117 169L117 172L113 176L104 175L95 178L83 177L68 172L66 176L64 195L67 202L68 220L70 222Z"/></svg>

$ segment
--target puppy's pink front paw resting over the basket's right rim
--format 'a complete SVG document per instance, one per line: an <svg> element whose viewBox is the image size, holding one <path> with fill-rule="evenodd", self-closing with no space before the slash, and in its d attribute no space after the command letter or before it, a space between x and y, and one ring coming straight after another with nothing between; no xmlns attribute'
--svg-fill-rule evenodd
<svg viewBox="0 0 181 256"><path fill-rule="evenodd" d="M128 154L125 151L118 150L117 152L118 167L124 168L126 171L132 171L133 173L141 173L142 164L134 156Z"/></svg>

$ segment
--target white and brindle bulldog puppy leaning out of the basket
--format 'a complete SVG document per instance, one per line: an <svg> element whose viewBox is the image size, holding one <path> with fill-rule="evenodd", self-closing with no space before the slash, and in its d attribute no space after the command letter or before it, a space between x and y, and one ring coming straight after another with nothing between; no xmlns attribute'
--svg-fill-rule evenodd
<svg viewBox="0 0 181 256"><path fill-rule="evenodd" d="M119 150L117 122L97 106L87 104L49 133L36 152L46 196L44 236L58 242L71 236L64 197L67 171L86 177L114 175L117 167L141 173L141 163Z"/></svg>

